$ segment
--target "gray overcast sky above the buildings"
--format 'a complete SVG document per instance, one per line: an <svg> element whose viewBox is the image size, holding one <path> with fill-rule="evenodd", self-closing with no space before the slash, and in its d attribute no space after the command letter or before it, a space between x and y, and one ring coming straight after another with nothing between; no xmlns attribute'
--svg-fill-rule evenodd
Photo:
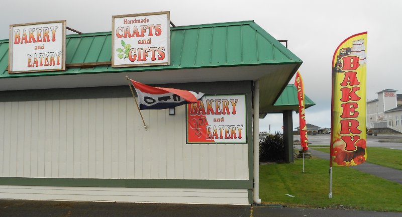
<svg viewBox="0 0 402 217"><path fill-rule="evenodd" d="M345 38L367 36L367 99L390 88L402 92L398 52L402 51L402 1L4 1L0 39L8 39L9 25L66 20L84 33L112 29L112 16L170 11L176 26L254 20L304 61L299 71L305 93L317 105L306 110L307 123L330 127L331 61ZM67 34L72 32L67 31ZM291 80L294 82L294 78ZM293 125L298 126L293 115ZM281 115L268 115L260 130L280 131Z"/></svg>

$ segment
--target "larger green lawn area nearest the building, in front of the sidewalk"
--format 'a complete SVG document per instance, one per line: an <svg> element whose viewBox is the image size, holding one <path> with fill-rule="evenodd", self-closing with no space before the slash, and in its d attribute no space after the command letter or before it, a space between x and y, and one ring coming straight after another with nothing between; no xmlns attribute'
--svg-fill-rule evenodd
<svg viewBox="0 0 402 217"><path fill-rule="evenodd" d="M295 160L260 165L260 197L264 204L402 212L402 185L348 167L333 168L333 198L329 192L329 162ZM293 195L294 197L286 196Z"/></svg>

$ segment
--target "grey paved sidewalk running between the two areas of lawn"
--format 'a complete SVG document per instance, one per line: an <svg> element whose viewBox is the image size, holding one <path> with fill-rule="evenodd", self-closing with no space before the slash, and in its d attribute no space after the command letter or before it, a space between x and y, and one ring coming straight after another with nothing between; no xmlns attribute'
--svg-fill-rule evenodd
<svg viewBox="0 0 402 217"><path fill-rule="evenodd" d="M314 149L309 150L311 151L311 154L313 156L326 160L330 159L329 153L317 151ZM402 184L402 170L392 169L389 167L379 166L367 162L357 166L352 166L351 168Z"/></svg>

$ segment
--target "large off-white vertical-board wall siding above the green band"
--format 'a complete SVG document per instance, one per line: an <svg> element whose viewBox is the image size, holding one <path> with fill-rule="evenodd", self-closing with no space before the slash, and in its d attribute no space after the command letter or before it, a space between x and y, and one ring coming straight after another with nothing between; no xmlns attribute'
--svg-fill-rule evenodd
<svg viewBox="0 0 402 217"><path fill-rule="evenodd" d="M248 180L247 144L185 144L185 106L133 98L0 102L0 176Z"/></svg>

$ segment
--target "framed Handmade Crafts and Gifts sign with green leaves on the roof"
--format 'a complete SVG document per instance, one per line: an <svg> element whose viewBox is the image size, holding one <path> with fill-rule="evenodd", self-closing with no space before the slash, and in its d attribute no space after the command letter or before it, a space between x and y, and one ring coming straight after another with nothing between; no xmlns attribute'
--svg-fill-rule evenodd
<svg viewBox="0 0 402 217"><path fill-rule="evenodd" d="M112 67L169 65L169 12L112 18Z"/></svg>

